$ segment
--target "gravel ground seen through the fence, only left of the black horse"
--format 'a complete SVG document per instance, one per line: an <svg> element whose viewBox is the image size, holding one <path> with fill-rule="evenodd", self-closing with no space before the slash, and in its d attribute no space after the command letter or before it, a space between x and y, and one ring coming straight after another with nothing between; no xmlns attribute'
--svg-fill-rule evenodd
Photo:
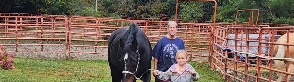
<svg viewBox="0 0 294 82"><path fill-rule="evenodd" d="M106 53L107 48L97 48L98 52ZM6 51L15 51L15 46L5 46ZM35 51L41 50L41 46L19 46L19 51L28 50ZM64 51L65 46L44 46L43 50L48 51ZM82 51L82 52L94 52L94 48L87 47L71 47L72 51ZM57 52L13 52L16 57L25 57L25 58L37 58L37 59L56 59L58 56ZM77 56L78 55L78 56ZM84 54L84 53L71 53L72 59L78 60L98 60L98 59L107 59L106 54ZM77 58L78 57L78 58ZM59 59L65 59L65 53L59 53Z"/></svg>

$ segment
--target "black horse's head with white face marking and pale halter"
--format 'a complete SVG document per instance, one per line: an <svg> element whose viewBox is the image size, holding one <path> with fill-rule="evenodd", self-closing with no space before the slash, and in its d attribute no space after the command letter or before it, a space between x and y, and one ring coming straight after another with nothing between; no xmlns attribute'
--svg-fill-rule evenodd
<svg viewBox="0 0 294 82"><path fill-rule="evenodd" d="M134 28L139 28L132 26L130 27L131 30L136 30ZM134 26L138 25L136 24ZM120 39L120 48L122 49L120 61L123 64L122 82L133 82L140 62L140 54L137 49L138 43L136 39L136 33L133 32L134 31L131 31L129 33L126 43Z"/></svg>

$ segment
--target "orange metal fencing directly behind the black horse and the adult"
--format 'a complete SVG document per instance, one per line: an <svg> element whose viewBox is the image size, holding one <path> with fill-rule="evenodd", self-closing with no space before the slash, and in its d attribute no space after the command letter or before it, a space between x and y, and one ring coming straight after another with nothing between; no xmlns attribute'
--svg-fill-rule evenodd
<svg viewBox="0 0 294 82"><path fill-rule="evenodd" d="M136 22L142 31L145 32L151 44L154 45L161 37L167 34L168 21L146 21L146 20L126 20L126 19L112 19L112 18L95 18L85 16L72 16L70 19L70 40L69 45L71 53L97 53L107 54L107 45L100 45L100 43L107 43L110 33L122 27L128 27L132 22ZM193 24L193 23L179 23L177 35L186 43L186 48L190 52L191 60L200 62L207 62L209 52L209 40L211 25L208 24ZM106 39L104 39L106 38ZM92 45L74 45L72 41L91 41ZM94 47L92 51L73 50L74 47ZM98 49L103 49L100 52ZM199 54L200 52L200 54Z"/></svg>

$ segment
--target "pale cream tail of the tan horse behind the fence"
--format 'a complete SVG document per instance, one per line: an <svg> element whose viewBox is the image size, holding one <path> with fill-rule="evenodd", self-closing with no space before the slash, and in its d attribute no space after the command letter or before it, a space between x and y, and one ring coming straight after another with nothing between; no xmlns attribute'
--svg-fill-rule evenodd
<svg viewBox="0 0 294 82"><path fill-rule="evenodd" d="M286 40L282 39L279 43L286 43ZM277 51L276 57L277 58L284 58L285 57L285 47L284 47L284 45L278 45L278 51ZM276 60L275 64L276 64L277 69L285 70L284 61Z"/></svg>

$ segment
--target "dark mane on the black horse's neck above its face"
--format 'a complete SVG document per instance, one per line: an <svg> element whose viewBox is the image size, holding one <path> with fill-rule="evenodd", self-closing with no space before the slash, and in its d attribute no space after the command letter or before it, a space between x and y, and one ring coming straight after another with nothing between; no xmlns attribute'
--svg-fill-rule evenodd
<svg viewBox="0 0 294 82"><path fill-rule="evenodd" d="M126 32L126 35L127 35L127 41L126 41L126 44L127 43L132 43L132 41L134 39L136 39L136 34L137 34L137 31L139 29L139 26L137 25L136 22L134 22L130 27L129 27L129 30Z"/></svg>

